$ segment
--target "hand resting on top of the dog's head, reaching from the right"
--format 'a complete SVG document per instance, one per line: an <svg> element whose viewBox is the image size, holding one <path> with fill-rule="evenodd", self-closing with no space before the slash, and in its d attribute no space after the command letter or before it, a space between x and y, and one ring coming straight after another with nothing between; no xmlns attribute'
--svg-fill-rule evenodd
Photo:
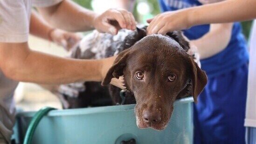
<svg viewBox="0 0 256 144"><path fill-rule="evenodd" d="M186 10L166 12L147 20L147 34L163 34L174 30L187 29L190 26L189 13Z"/></svg>

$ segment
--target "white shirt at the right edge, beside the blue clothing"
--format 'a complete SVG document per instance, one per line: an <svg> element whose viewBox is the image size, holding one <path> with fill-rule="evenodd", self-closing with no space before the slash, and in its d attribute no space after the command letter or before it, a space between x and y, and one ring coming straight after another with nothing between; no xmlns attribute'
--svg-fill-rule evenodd
<svg viewBox="0 0 256 144"><path fill-rule="evenodd" d="M250 36L250 61L245 126L256 127L256 20Z"/></svg>

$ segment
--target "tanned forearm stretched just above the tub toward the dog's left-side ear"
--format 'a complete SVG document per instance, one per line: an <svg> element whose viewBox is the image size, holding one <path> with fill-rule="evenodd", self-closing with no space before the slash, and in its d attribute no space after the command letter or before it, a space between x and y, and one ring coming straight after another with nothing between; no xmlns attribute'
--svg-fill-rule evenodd
<svg viewBox="0 0 256 144"><path fill-rule="evenodd" d="M22 64L14 69L17 72L14 79L18 81L45 84L101 81L99 61L95 60L66 59L31 51Z"/></svg>

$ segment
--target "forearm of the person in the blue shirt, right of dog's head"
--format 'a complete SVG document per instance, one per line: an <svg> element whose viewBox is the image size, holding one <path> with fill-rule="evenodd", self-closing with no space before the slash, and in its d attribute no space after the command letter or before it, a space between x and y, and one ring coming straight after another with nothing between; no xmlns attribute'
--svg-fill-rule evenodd
<svg viewBox="0 0 256 144"><path fill-rule="evenodd" d="M233 23L211 24L210 30L200 39L191 41L201 59L211 57L227 47L231 38Z"/></svg>

